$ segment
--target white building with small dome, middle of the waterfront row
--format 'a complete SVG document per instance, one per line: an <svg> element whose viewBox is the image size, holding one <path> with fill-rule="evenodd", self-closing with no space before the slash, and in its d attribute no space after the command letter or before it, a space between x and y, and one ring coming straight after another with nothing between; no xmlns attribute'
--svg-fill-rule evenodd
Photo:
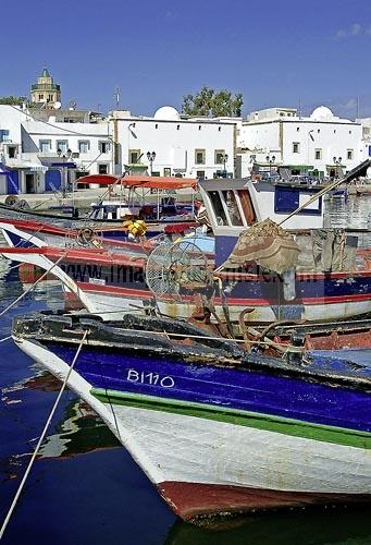
<svg viewBox="0 0 371 545"><path fill-rule="evenodd" d="M187 178L234 173L234 120L181 117L175 108L164 106L152 118L114 111L111 123L116 173L125 167Z"/></svg>

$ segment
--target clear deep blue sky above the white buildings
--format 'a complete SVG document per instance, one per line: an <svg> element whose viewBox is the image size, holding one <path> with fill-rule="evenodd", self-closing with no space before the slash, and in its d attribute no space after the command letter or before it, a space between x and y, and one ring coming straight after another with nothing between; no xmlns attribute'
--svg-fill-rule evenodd
<svg viewBox="0 0 371 545"><path fill-rule="evenodd" d="M62 101L152 114L208 85L270 106L371 116L371 0L1 2L0 95L46 64Z"/></svg>

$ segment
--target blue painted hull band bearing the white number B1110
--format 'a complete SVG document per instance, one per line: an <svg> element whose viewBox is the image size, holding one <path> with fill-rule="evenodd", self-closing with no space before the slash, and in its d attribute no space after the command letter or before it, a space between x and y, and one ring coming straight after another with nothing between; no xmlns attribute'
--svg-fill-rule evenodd
<svg viewBox="0 0 371 545"><path fill-rule="evenodd" d="M48 343L67 363L75 347ZM76 370L95 388L208 403L371 432L370 395L267 371L169 361L154 352L84 348ZM164 378L169 377L169 378ZM164 379L164 380L162 380Z"/></svg>

